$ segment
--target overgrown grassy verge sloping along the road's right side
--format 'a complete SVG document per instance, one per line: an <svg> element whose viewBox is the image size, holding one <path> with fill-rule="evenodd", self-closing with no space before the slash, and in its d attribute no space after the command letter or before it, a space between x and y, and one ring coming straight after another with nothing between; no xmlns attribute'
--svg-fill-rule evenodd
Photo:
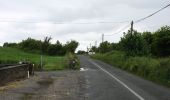
<svg viewBox="0 0 170 100"><path fill-rule="evenodd" d="M170 87L170 58L129 57L123 52L113 51L95 54L92 58L102 60L143 78Z"/></svg>

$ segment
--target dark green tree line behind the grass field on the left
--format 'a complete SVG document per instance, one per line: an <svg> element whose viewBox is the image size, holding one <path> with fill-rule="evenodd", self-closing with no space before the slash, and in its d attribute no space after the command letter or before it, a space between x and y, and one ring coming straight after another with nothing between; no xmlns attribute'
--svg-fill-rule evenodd
<svg viewBox="0 0 170 100"><path fill-rule="evenodd" d="M27 38L19 43L6 42L3 44L3 47L19 48L27 52L40 53L44 55L63 56L68 52L75 53L75 50L79 45L79 43L75 40L68 41L66 44L62 44L57 40L55 44L52 44L51 39L51 37L45 37L42 41Z"/></svg>

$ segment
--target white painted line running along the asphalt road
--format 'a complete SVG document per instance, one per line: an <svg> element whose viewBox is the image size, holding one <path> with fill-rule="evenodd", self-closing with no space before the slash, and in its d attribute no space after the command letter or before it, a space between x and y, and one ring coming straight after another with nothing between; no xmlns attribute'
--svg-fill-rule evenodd
<svg viewBox="0 0 170 100"><path fill-rule="evenodd" d="M109 76L111 76L113 79L115 79L117 82L119 82L121 85L123 85L125 88L127 88L131 93L133 93L136 97L139 98L139 100L145 100L143 97L141 97L138 93L136 93L134 90L132 90L130 87L128 87L125 83L123 83L121 80L119 80L117 77L113 76L111 73L109 73L108 71L106 71L105 69L103 69L101 66L99 66L98 64L96 64L93 61L90 61L92 64L94 64L96 67L98 67L99 69L101 69L102 71L104 71L105 73L107 73Z"/></svg>

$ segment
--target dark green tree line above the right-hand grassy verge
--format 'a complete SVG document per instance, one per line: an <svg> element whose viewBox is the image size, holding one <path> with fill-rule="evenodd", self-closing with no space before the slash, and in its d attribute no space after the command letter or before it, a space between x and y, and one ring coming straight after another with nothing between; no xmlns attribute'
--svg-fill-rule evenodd
<svg viewBox="0 0 170 100"><path fill-rule="evenodd" d="M124 51L128 56L170 56L170 26L163 26L155 32L124 32L119 43L104 41L99 47L92 46L92 52L106 53L112 50Z"/></svg>

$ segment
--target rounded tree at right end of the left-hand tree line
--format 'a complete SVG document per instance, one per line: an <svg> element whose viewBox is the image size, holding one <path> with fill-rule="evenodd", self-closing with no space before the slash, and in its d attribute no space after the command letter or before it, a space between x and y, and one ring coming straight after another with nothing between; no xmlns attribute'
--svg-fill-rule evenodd
<svg viewBox="0 0 170 100"><path fill-rule="evenodd" d="M75 40L71 40L70 42L67 42L65 44L66 52L75 53L75 50L77 49L78 45L79 43Z"/></svg>

